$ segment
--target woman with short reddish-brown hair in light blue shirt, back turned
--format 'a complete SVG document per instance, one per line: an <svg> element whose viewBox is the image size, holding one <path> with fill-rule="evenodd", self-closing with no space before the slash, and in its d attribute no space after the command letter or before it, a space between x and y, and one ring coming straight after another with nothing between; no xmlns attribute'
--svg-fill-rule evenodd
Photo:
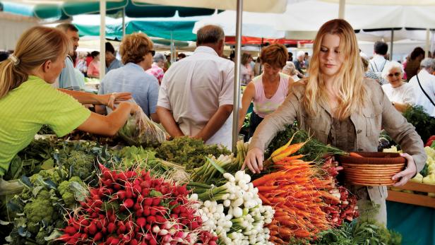
<svg viewBox="0 0 435 245"><path fill-rule="evenodd" d="M153 121L160 122L155 112L159 83L157 78L145 73L153 64L153 42L141 32L126 35L119 52L124 66L107 73L101 81L98 94L131 92L143 112ZM98 112L104 114L105 107L100 107Z"/></svg>

